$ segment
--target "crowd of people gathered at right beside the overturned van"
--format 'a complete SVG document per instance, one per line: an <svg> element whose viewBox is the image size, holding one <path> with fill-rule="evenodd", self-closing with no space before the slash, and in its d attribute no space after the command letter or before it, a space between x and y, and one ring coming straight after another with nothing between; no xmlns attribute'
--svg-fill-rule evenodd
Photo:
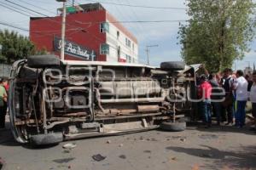
<svg viewBox="0 0 256 170"><path fill-rule="evenodd" d="M218 125L244 127L246 106L252 104L253 126L256 131L256 71L244 76L243 71L225 69L222 73L201 75L198 86L200 111L207 127L212 125L212 113ZM250 101L250 102L247 102Z"/></svg>

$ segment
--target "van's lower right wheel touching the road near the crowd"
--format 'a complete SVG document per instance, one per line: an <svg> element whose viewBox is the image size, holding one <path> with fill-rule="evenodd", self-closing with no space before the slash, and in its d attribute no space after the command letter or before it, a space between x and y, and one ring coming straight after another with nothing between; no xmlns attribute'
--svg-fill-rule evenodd
<svg viewBox="0 0 256 170"><path fill-rule="evenodd" d="M162 122L160 129L171 132L181 132L186 129L186 122Z"/></svg>

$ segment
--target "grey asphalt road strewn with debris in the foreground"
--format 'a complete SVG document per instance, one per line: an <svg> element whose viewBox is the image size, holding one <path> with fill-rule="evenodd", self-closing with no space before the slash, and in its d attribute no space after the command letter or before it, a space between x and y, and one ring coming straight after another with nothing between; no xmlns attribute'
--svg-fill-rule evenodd
<svg viewBox="0 0 256 170"><path fill-rule="evenodd" d="M67 143L77 147L62 149ZM256 133L234 127L190 127L182 133L149 131L32 148L17 144L9 130L2 130L0 157L7 170L256 169Z"/></svg>

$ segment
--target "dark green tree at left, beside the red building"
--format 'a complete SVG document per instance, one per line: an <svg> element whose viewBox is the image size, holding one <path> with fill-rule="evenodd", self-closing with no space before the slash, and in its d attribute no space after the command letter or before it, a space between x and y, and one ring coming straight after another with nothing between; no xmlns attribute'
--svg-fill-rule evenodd
<svg viewBox="0 0 256 170"><path fill-rule="evenodd" d="M37 51L36 46L28 39L18 35L15 31L0 30L0 63L12 64L17 59L26 59L33 54L45 54L46 51Z"/></svg>

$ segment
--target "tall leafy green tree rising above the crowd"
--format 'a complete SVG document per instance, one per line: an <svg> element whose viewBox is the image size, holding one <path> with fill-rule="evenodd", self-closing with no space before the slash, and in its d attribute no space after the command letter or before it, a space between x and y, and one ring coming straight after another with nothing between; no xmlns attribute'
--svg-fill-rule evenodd
<svg viewBox="0 0 256 170"><path fill-rule="evenodd" d="M178 31L187 64L203 63L217 72L243 59L254 37L252 0L187 0L187 5L190 20Z"/></svg>

